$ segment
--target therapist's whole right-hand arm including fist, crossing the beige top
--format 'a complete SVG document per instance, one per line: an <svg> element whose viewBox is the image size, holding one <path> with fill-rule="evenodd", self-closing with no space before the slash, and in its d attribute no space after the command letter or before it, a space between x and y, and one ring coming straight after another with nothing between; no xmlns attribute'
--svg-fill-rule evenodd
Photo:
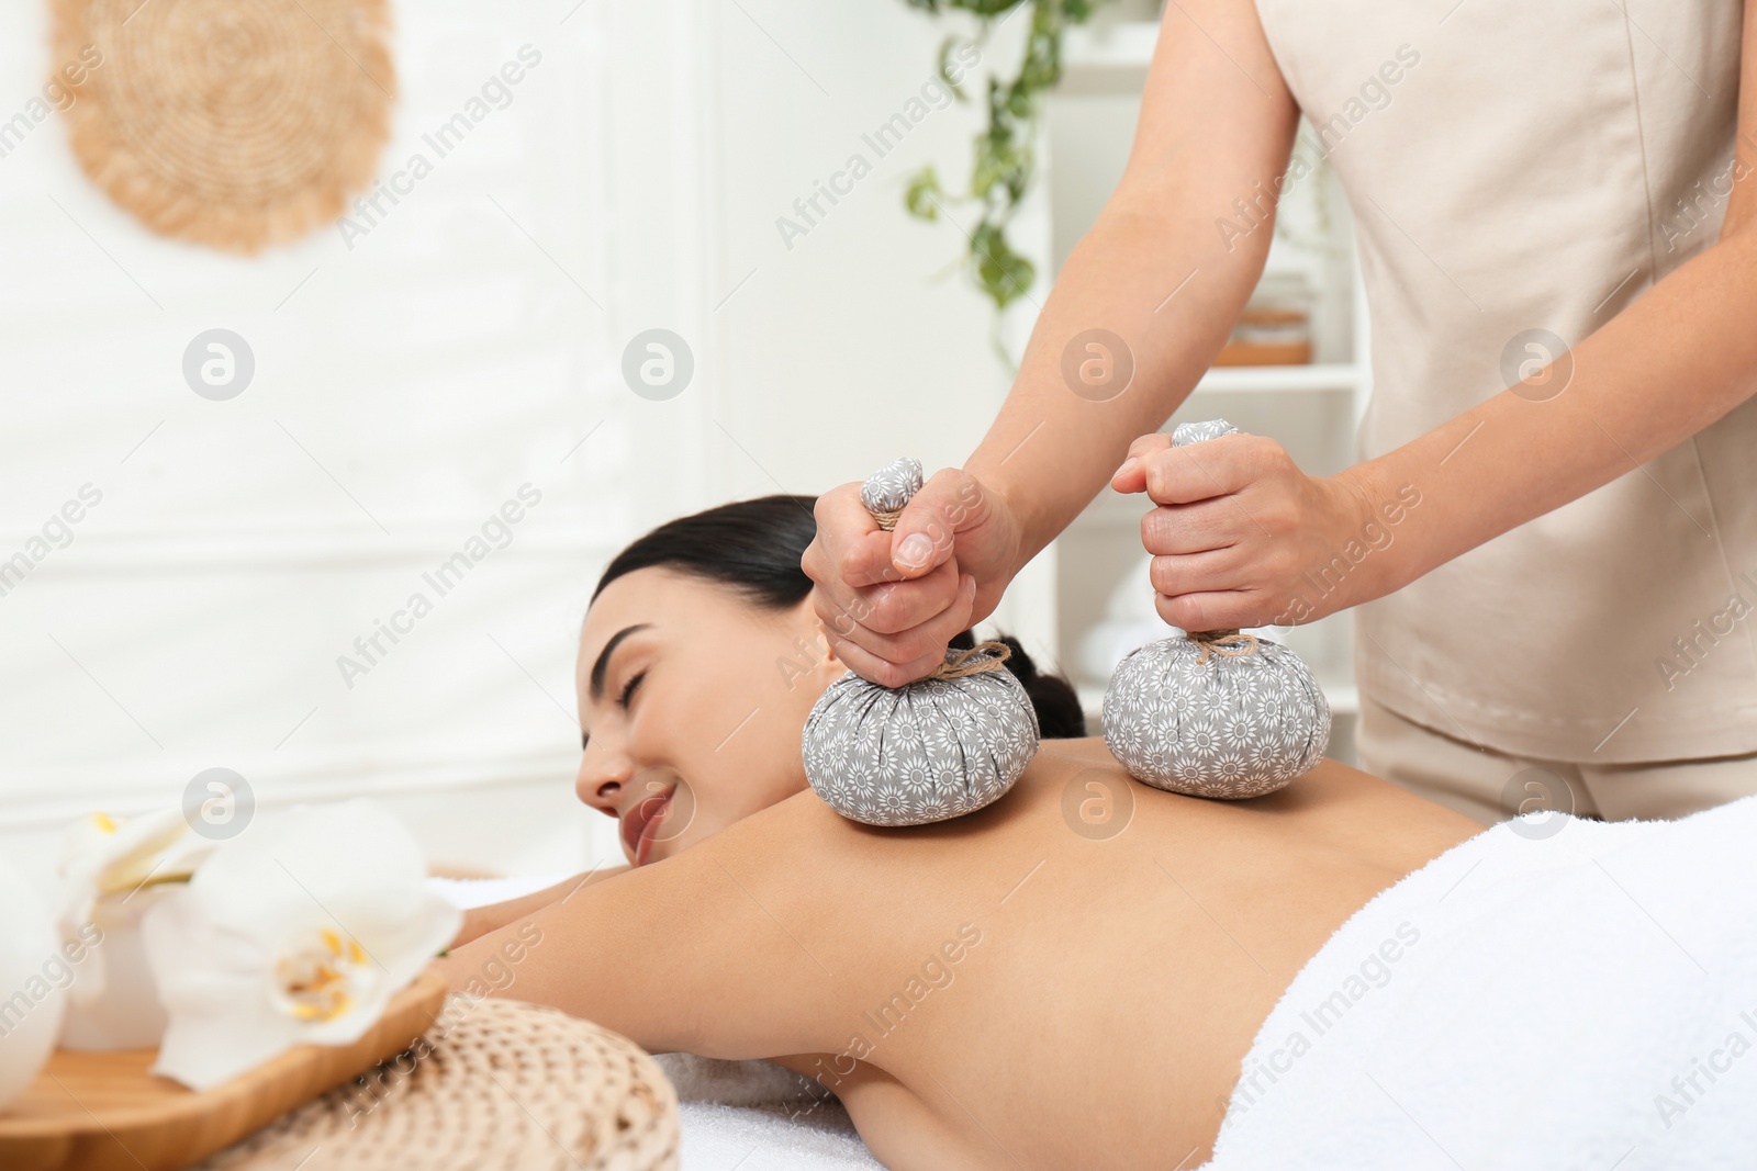
<svg viewBox="0 0 1757 1171"><path fill-rule="evenodd" d="M1327 479L1258 435L1175 449L1167 435L1140 435L1130 449L1140 458L1112 485L1160 506L1142 530L1160 616L1191 630L1298 623L1383 597L1632 472L1757 393L1757 0L1745 4L1734 149L1718 241L1576 344L1571 374L1551 363ZM1420 509L1402 513L1411 486ZM1397 541L1312 592L1309 581L1346 544L1365 544L1381 516L1400 518Z"/></svg>

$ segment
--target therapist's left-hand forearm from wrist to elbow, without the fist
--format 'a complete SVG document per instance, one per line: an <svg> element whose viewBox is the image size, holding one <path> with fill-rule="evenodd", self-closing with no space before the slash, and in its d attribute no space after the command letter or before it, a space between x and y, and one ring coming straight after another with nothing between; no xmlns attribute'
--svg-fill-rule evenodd
<svg viewBox="0 0 1757 1171"><path fill-rule="evenodd" d="M1019 518L1019 565L1079 516L1130 442L1158 430L1189 395L1262 274L1270 225L1228 251L1214 226L1214 209L1226 209L1219 193L1147 202L1112 200L1068 256L1012 393L965 462ZM1075 393L1061 370L1070 341L1091 328L1123 337L1133 355L1133 379L1107 402Z"/></svg>

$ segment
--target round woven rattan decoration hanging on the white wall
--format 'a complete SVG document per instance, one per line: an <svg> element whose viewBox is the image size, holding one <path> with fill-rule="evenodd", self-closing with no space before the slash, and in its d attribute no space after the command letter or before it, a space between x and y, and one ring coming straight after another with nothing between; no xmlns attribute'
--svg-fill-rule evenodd
<svg viewBox="0 0 1757 1171"><path fill-rule="evenodd" d="M390 133L388 0L51 0L74 154L153 232L255 253L341 216ZM81 54L86 54L84 58Z"/></svg>

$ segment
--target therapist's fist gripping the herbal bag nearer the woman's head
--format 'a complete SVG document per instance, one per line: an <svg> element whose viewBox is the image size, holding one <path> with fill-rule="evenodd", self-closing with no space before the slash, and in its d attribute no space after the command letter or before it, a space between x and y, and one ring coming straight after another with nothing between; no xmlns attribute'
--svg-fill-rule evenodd
<svg viewBox="0 0 1757 1171"><path fill-rule="evenodd" d="M1019 523L961 469L935 472L886 532L850 483L817 497L817 535L799 558L836 657L880 686L945 660L947 644L994 613L1017 571Z"/></svg>

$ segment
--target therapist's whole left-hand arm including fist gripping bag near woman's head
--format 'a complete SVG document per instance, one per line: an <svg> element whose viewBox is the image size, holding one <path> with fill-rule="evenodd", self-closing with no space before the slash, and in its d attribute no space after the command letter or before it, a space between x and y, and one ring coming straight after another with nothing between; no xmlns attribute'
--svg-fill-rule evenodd
<svg viewBox="0 0 1757 1171"><path fill-rule="evenodd" d="M924 485L894 534L861 507L859 485L819 497L801 567L842 662L886 686L931 671L1091 502L1130 441L1177 409L1262 276L1297 123L1251 0L1167 5L1128 167L1056 277L980 446ZM1225 233L1223 218L1256 226ZM1114 397L1063 376L1089 330L1119 337L1126 356L1109 356L1133 363ZM1082 358L1102 355L1079 348Z"/></svg>

